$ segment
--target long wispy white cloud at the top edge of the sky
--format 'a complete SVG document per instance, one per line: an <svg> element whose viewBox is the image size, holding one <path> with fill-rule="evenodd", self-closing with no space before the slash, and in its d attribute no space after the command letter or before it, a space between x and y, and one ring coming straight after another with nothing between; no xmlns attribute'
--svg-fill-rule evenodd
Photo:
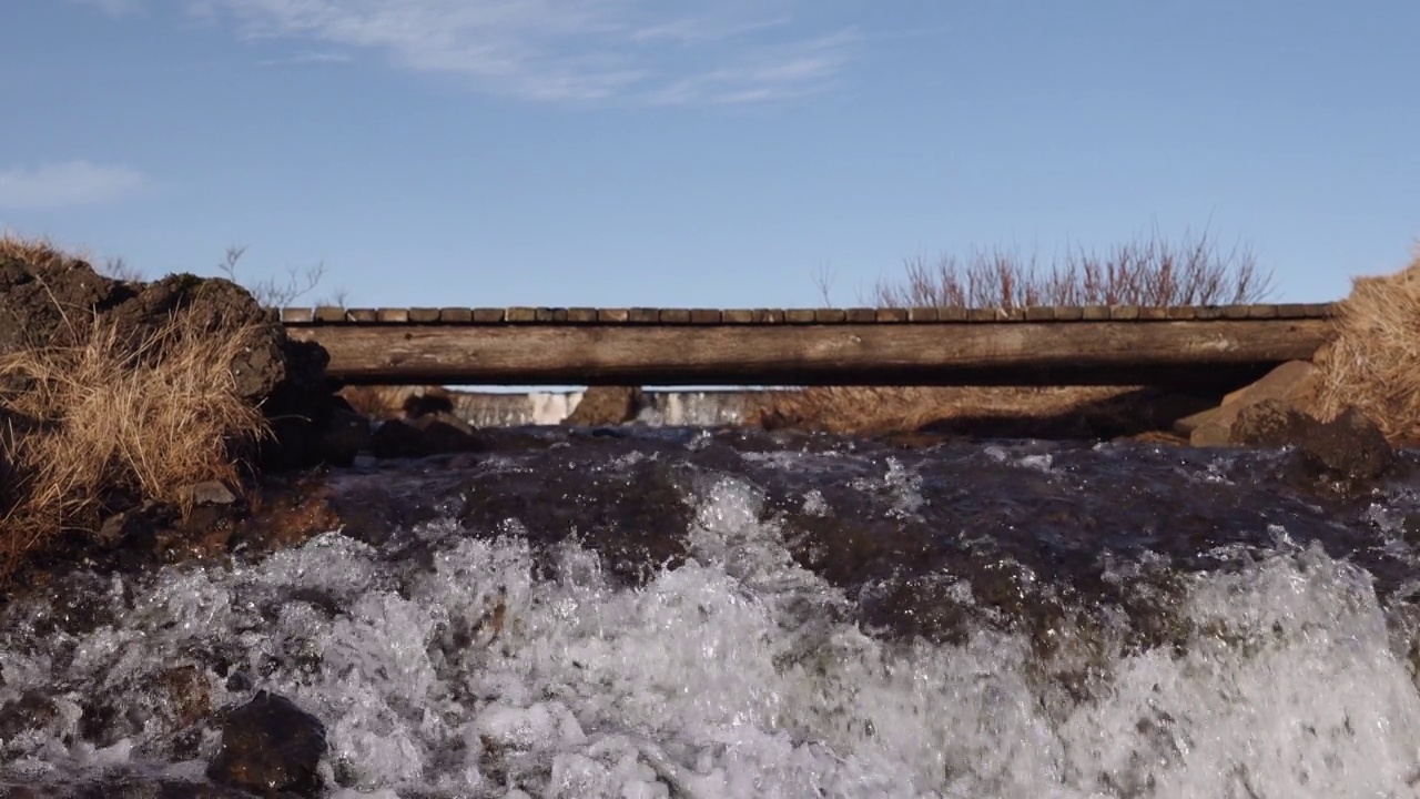
<svg viewBox="0 0 1420 799"><path fill-rule="evenodd" d="M180 3L247 41L368 50L402 68L454 74L480 91L538 101L684 105L801 97L829 87L856 41L851 30L802 18L811 0Z"/></svg>

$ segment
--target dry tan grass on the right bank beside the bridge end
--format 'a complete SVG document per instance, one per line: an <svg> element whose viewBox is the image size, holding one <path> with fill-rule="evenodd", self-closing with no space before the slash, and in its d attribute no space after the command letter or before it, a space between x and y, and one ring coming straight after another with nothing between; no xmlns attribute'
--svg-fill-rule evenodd
<svg viewBox="0 0 1420 799"><path fill-rule="evenodd" d="M1399 273L1353 281L1319 365L1321 417L1353 405L1392 442L1420 441L1420 247Z"/></svg>

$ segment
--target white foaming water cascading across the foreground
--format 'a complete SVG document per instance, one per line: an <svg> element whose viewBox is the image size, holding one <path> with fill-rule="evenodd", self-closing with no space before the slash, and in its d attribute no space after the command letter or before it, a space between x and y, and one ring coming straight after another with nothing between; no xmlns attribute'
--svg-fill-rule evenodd
<svg viewBox="0 0 1420 799"><path fill-rule="evenodd" d="M315 714L328 785L349 798L1420 795L1420 694L1345 562L1284 536L1241 572L1191 577L1183 653L1116 650L1075 702L1024 637L892 645L832 621L845 597L792 563L758 502L733 481L701 496L693 560L640 590L571 545L534 580L521 540L447 523L415 530L432 567L331 533L254 566L172 569L114 627L0 650L0 699L71 687L4 754L30 778L162 761L156 675L230 650L256 685L206 672L213 705L267 688ZM1062 660L1085 657L1056 634ZM101 751L65 744L80 692L108 690L135 692L146 725Z"/></svg>

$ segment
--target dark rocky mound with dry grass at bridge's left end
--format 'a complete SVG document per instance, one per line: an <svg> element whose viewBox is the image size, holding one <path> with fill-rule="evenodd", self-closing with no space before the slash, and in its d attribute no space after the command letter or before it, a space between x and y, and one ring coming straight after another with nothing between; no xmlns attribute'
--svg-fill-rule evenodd
<svg viewBox="0 0 1420 799"><path fill-rule="evenodd" d="M230 281L118 281L0 237L0 577L128 512L187 513L199 483L318 462L324 368Z"/></svg>

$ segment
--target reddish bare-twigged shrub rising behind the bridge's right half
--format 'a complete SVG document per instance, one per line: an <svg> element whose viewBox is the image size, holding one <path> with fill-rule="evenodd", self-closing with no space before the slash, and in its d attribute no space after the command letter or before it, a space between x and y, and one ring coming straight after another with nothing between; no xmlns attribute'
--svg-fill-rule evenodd
<svg viewBox="0 0 1420 799"><path fill-rule="evenodd" d="M1154 233L1105 253L1071 250L1042 267L1034 256L976 250L966 259L923 256L903 263L902 281L879 280L888 307L1021 309L1031 306L1218 306L1272 291L1272 274L1244 247L1221 249L1204 230L1170 242Z"/></svg>

